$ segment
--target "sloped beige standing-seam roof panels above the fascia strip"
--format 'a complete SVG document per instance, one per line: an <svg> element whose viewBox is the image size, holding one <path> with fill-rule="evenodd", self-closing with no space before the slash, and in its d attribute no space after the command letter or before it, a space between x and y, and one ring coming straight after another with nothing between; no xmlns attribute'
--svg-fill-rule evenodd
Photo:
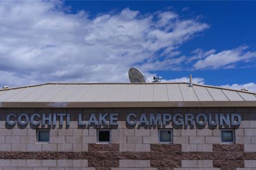
<svg viewBox="0 0 256 170"><path fill-rule="evenodd" d="M19 103L74 102L81 104L83 102L255 101L251 104L256 104L256 93L201 84L193 85L189 87L188 83L46 83L2 89L0 106L9 107L11 104Z"/></svg>

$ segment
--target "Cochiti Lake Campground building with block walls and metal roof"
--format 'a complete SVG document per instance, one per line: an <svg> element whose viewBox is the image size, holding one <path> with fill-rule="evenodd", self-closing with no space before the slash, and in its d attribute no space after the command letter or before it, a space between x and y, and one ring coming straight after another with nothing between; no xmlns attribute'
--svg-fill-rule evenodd
<svg viewBox="0 0 256 170"><path fill-rule="evenodd" d="M0 169L256 169L256 94L188 83L0 90Z"/></svg>

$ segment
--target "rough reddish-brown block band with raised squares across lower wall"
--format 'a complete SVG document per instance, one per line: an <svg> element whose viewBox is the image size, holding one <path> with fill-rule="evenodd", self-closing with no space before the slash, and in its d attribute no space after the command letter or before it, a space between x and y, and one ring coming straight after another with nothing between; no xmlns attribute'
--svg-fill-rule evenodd
<svg viewBox="0 0 256 170"><path fill-rule="evenodd" d="M221 145L211 152L182 152L180 145L150 145L152 151L119 151L115 145L89 145L90 151L2 151L0 159L7 160L88 160L88 167L106 170L119 167L119 160L150 160L150 166L160 169L181 167L182 160L213 160L213 167L223 170L243 168L244 160L256 160L256 152L241 151L240 145ZM216 145L215 147L217 147ZM231 148L231 149L230 149ZM234 149L235 148L235 149ZM166 150L165 150L166 149ZM111 150L111 151L109 151ZM222 151L217 151L222 150ZM229 150L229 151L223 151ZM237 151L230 151L237 150Z"/></svg>

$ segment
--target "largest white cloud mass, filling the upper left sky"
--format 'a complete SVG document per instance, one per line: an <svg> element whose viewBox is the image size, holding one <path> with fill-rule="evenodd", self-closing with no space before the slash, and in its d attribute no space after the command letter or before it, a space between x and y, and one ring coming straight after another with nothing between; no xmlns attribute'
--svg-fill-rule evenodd
<svg viewBox="0 0 256 170"><path fill-rule="evenodd" d="M178 69L178 47L208 28L171 11L124 9L91 18L63 8L59 1L0 1L0 84L128 82L131 66L145 75Z"/></svg>

